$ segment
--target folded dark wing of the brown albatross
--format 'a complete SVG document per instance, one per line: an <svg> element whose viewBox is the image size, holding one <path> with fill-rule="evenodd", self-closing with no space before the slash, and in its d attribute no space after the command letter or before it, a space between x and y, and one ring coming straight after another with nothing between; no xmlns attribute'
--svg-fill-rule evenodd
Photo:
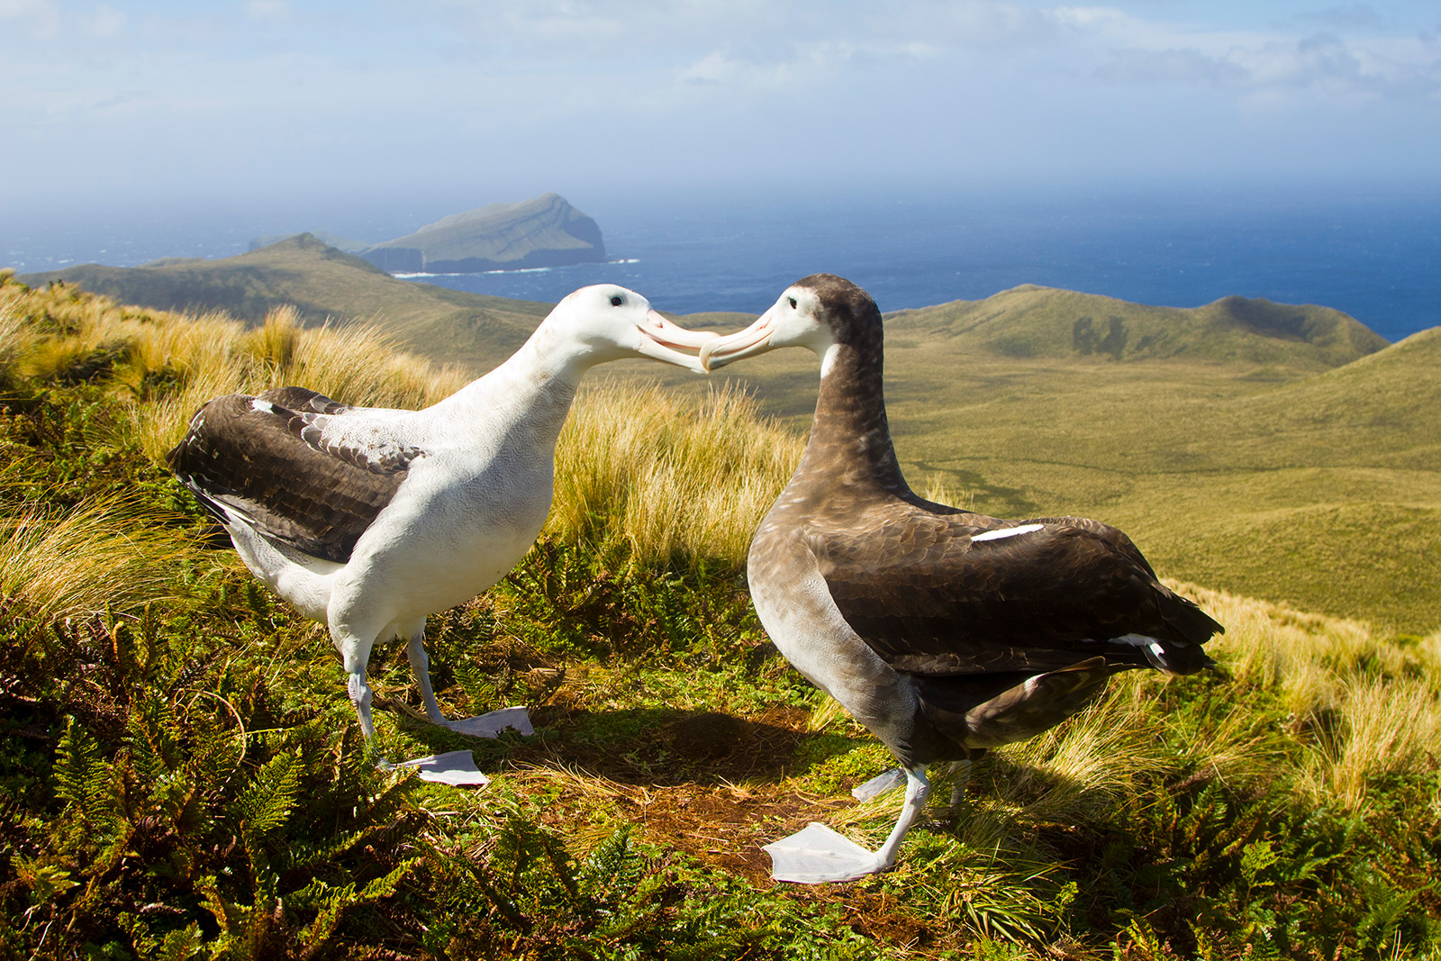
<svg viewBox="0 0 1441 961"><path fill-rule="evenodd" d="M1157 579L1114 527L1074 517L1017 522L902 507L865 530L814 532L811 550L850 627L898 670L1035 673L1089 657L1192 673L1222 627ZM973 539L980 535L981 539ZM1127 634L1159 641L1115 643Z"/></svg>

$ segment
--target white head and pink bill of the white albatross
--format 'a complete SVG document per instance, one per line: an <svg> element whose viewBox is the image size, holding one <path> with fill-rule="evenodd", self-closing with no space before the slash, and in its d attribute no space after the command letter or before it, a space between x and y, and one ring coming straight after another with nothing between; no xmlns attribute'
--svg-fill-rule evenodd
<svg viewBox="0 0 1441 961"><path fill-rule="evenodd" d="M643 356L705 373L699 350L713 331L686 330L661 317L650 301L615 284L592 284L566 294L536 334L558 337L586 354L586 363Z"/></svg>

